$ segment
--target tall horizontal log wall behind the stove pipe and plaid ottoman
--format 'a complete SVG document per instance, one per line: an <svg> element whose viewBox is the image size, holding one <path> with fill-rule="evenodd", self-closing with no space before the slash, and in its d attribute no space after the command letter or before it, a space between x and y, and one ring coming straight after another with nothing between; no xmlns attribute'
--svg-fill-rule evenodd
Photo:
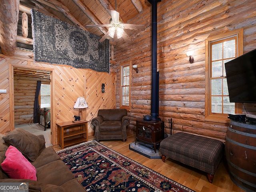
<svg viewBox="0 0 256 192"><path fill-rule="evenodd" d="M205 117L205 40L244 28L244 53L256 48L255 0L162 0L158 3L158 69L160 71L160 118L165 132L178 131L225 141L227 124L206 122ZM120 106L119 64L138 65L132 70L131 104L128 113L135 128L136 119L150 114L151 97L151 8L128 23L144 24L144 32L126 30L133 43L116 43L116 105ZM194 63L186 52L194 50ZM249 107L250 106L250 107ZM255 106L246 109L255 112Z"/></svg>

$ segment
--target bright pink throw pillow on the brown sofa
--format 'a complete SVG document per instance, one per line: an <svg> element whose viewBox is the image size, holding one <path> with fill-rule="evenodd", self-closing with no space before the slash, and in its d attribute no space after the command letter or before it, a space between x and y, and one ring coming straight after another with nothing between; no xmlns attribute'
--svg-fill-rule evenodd
<svg viewBox="0 0 256 192"><path fill-rule="evenodd" d="M36 168L14 146L9 146L1 163L2 170L12 179L36 180Z"/></svg>

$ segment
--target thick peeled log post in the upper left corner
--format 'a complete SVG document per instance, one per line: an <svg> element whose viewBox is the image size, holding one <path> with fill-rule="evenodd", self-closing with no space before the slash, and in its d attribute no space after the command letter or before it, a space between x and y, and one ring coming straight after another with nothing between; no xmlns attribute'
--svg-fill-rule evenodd
<svg viewBox="0 0 256 192"><path fill-rule="evenodd" d="M14 56L19 20L20 0L1 0L0 46L6 56Z"/></svg>

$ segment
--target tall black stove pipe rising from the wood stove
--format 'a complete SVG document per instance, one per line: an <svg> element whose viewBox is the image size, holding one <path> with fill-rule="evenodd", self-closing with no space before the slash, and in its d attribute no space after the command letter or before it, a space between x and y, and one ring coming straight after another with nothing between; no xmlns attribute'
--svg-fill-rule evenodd
<svg viewBox="0 0 256 192"><path fill-rule="evenodd" d="M157 72L157 2L161 0L148 0L152 4L152 79L151 79L151 116L157 120L159 107L159 86Z"/></svg>

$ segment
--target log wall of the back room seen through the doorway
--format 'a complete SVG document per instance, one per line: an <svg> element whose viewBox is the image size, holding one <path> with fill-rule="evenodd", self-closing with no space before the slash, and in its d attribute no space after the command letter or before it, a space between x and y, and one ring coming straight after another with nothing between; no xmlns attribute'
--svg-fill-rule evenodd
<svg viewBox="0 0 256 192"><path fill-rule="evenodd" d="M33 123L34 100L37 81L49 82L44 78L14 75L14 124Z"/></svg>

